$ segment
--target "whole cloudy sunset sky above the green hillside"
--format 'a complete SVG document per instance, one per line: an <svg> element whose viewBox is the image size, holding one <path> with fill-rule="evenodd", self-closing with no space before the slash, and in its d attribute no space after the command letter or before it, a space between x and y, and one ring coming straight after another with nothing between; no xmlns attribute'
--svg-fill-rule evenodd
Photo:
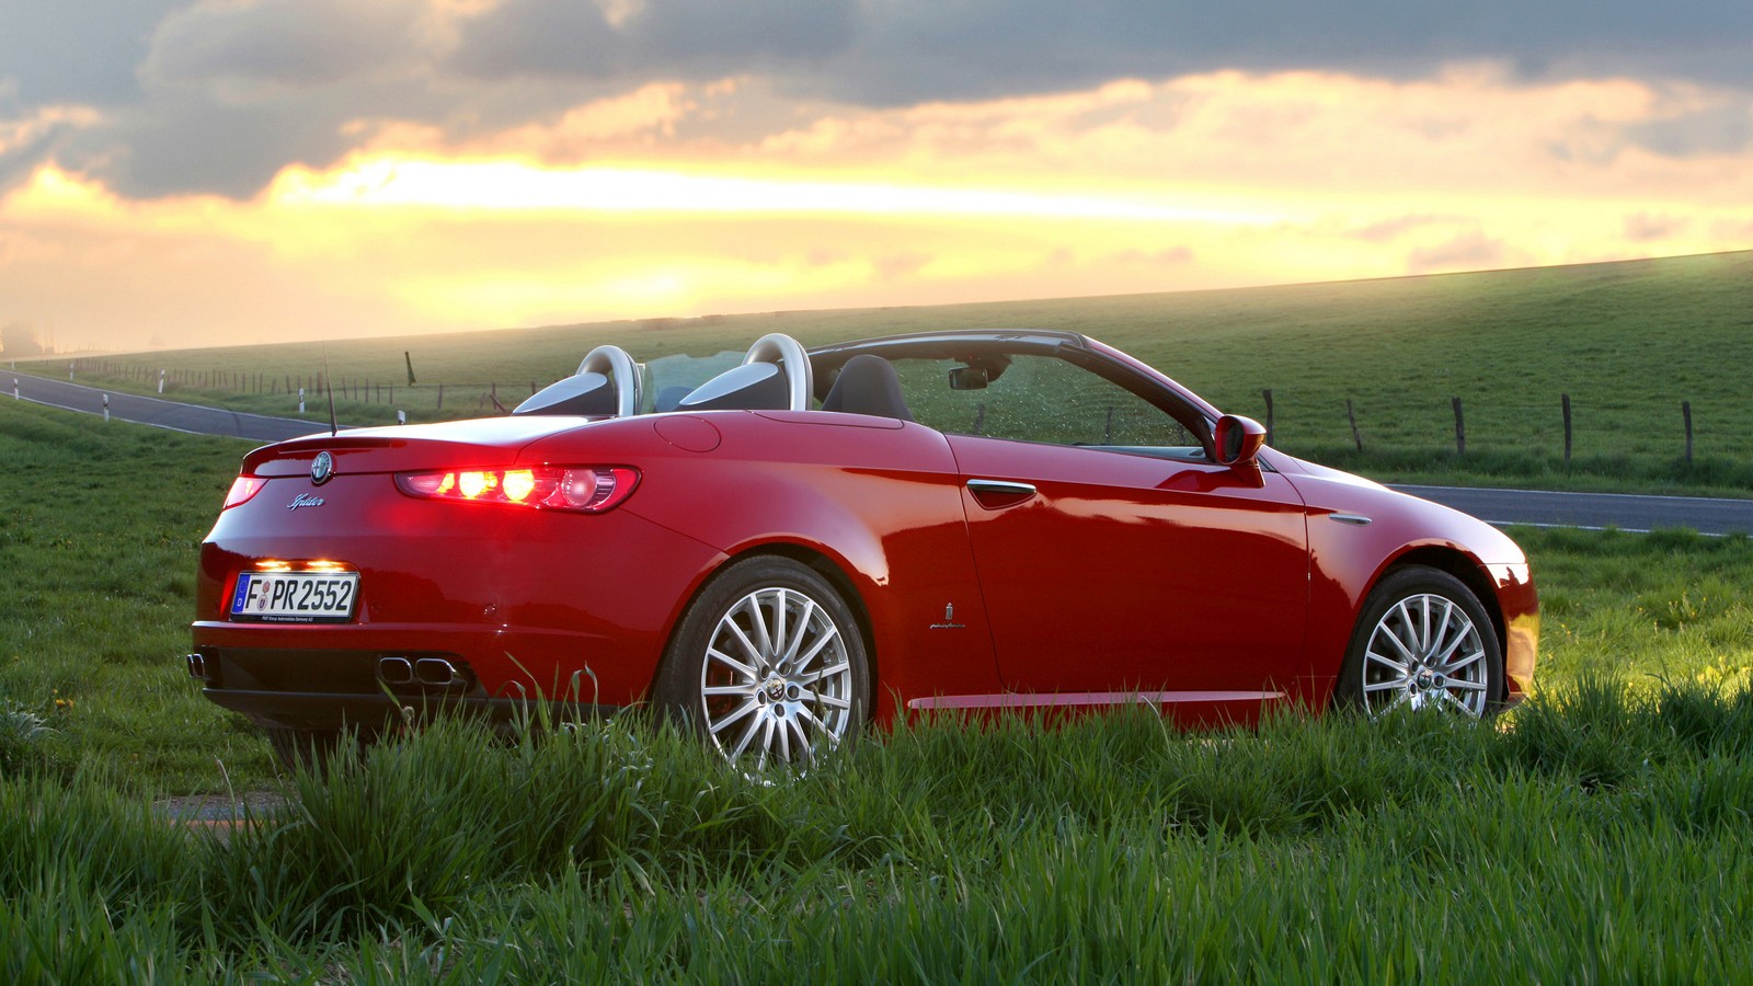
<svg viewBox="0 0 1753 986"><path fill-rule="evenodd" d="M1748 0L0 0L63 351L1748 247Z"/></svg>

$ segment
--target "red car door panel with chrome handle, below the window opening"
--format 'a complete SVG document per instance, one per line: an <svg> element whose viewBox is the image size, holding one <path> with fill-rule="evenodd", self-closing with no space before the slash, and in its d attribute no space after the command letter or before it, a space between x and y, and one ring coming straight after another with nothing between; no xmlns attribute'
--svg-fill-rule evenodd
<svg viewBox="0 0 1753 986"><path fill-rule="evenodd" d="M1004 686L1259 702L1304 674L1308 539L1278 474L950 435Z"/></svg>

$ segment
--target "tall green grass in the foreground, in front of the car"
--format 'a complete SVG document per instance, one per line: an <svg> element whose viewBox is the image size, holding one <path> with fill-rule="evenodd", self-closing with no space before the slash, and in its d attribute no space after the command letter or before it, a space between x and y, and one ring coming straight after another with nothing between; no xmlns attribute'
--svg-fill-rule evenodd
<svg viewBox="0 0 1753 986"><path fill-rule="evenodd" d="M635 719L466 723L235 830L0 782L0 977L1746 981L1753 695L1502 723L899 723L756 782Z"/></svg>

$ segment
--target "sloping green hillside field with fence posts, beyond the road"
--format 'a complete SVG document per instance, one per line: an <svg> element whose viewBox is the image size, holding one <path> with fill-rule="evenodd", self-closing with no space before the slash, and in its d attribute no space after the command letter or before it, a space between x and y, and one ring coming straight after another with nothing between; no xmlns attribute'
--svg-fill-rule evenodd
<svg viewBox="0 0 1753 986"><path fill-rule="evenodd" d="M198 349L110 358L119 374L96 372L95 361L81 379L151 391L156 370L170 368L167 393L181 400L291 414L296 397L284 393L286 384L296 388L302 377L314 386L326 356L344 421L389 423L398 407L421 421L491 414L489 391L515 405L531 384L571 372L601 342L656 360L740 351L768 332L819 344L952 326L1085 332L1225 411L1262 419L1262 389L1271 389L1280 447L1369 475L1753 493L1753 404L1737 372L1753 367L1753 251L1232 291ZM414 361L415 388L407 386L403 353ZM61 374L65 360L42 368ZM1572 400L1569 463L1560 395ZM1455 454L1450 400L1457 397L1466 456ZM1346 402L1364 453L1352 442ZM1681 402L1693 414L1690 463ZM326 412L312 395L307 416L326 419Z"/></svg>

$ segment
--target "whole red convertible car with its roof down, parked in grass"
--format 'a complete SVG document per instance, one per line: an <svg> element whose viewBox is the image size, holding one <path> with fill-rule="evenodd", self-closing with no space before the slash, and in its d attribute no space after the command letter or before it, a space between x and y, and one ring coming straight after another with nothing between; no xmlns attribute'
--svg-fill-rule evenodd
<svg viewBox="0 0 1753 986"><path fill-rule="evenodd" d="M649 704L756 770L906 709L1487 716L1530 684L1506 535L1264 447L1092 339L770 335L720 363L666 384L605 346L510 416L249 453L189 672L286 760L542 700Z"/></svg>

